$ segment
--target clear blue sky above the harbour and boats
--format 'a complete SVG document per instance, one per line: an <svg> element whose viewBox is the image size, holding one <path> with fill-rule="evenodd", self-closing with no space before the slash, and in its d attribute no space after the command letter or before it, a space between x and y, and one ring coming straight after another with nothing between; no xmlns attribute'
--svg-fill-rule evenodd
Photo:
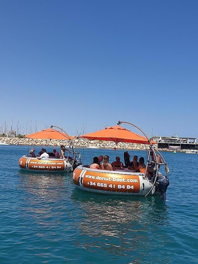
<svg viewBox="0 0 198 264"><path fill-rule="evenodd" d="M197 10L182 0L1 1L0 124L73 135L124 120L148 135L196 136Z"/></svg>

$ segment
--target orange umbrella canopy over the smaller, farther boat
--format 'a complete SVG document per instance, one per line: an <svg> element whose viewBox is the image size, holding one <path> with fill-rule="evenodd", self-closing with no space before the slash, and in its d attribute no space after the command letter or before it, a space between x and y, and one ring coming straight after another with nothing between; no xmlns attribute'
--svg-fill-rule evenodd
<svg viewBox="0 0 198 264"><path fill-rule="evenodd" d="M59 139L59 140L69 140L68 136L65 133L62 133L56 129L43 129L40 132L27 135L26 138L35 138L35 139ZM69 136L70 139L75 139L73 136Z"/></svg>

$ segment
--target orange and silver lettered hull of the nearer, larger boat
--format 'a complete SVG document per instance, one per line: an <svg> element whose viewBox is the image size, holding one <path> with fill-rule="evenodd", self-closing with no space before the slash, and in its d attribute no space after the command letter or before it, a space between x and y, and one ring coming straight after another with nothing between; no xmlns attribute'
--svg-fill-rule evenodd
<svg viewBox="0 0 198 264"><path fill-rule="evenodd" d="M84 191L116 195L145 196L152 186L147 178L144 179L144 173L95 170L82 166L75 168L73 182ZM154 188L151 194L159 192L155 193Z"/></svg>

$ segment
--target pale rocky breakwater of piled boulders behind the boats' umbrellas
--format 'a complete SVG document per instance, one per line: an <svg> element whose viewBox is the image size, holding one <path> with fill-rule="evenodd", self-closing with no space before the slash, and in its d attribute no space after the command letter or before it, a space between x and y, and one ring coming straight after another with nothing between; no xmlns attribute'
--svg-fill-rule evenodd
<svg viewBox="0 0 198 264"><path fill-rule="evenodd" d="M50 139L29 139L29 138L8 138L8 137L0 137L0 142L10 144L10 145L31 145L31 146L69 146L68 140L50 140ZM74 145L78 148L110 148L113 149L116 145L115 142L112 141L102 141L102 140L88 140L76 138L72 140ZM134 150L144 150L144 144L135 144L135 143L123 143L119 142L116 146L117 149L134 149ZM156 145L157 147L157 145ZM146 145L148 149L149 146Z"/></svg>

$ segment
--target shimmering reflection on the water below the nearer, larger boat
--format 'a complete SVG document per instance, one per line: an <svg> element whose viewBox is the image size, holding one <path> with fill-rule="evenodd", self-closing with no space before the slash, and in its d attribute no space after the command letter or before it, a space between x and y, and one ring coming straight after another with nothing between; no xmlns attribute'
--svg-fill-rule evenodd
<svg viewBox="0 0 198 264"><path fill-rule="evenodd" d="M151 229L155 228L157 232L160 225L169 223L167 206L158 196L146 199L99 195L75 189L71 199L77 210L84 212L78 226L86 240L80 246L83 245L92 253L97 248L119 256L126 256L136 250L151 250ZM101 237L100 243L96 237ZM159 241L163 243L163 239ZM132 263L139 263L137 256Z"/></svg>

